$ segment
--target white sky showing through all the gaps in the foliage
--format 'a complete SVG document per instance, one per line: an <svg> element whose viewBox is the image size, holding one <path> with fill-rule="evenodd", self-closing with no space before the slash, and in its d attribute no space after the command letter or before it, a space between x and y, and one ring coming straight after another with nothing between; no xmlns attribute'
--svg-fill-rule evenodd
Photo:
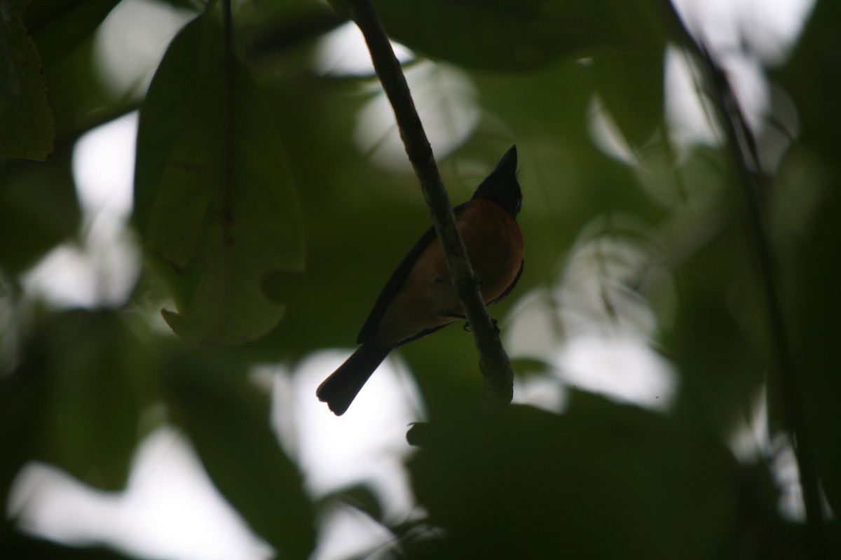
<svg viewBox="0 0 841 560"><path fill-rule="evenodd" d="M779 63L784 58L812 0L675 0L675 4L686 14L690 28L701 30L714 50L730 52L725 64L733 71L739 97L746 107L754 108L752 122L758 126L769 95L761 64ZM115 91L142 90L169 39L185 21L183 13L161 3L120 3L103 24L97 47L103 76L114 80ZM752 47L754 57L733 48L741 39ZM359 48L358 40L351 28L331 34L314 60L315 68L333 74L371 73L368 53ZM349 46L353 41L355 46ZM402 56L406 60L411 57L408 51ZM685 142L711 143L714 134L692 97L693 88L687 85L690 76L678 58L669 60L667 71L671 122L683 131ZM447 65L423 62L409 72L409 80L418 96L421 117L430 125L436 154L458 148L481 114L468 76ZM436 87L424 89L431 81ZM436 112L436 107L442 106L450 113ZM92 131L77 144L73 165L84 212L82 243L56 248L29 271L24 284L30 296L56 307L119 306L127 298L140 270L140 251L125 228L131 211L136 126L132 114ZM621 143L606 133L609 128L607 121L595 123L595 140L608 153L626 157ZM380 97L360 114L354 139L362 154L373 154L377 165L390 167L405 159L390 108ZM549 300L578 302L563 307L560 319L566 324L585 325L593 319L596 306L587 302L603 295L592 291L600 281L594 280L591 271L590 256L596 247L621 250L640 259L649 250L617 248L611 243L616 240L583 235L572 252L569 269L558 285L548 289L554 291L534 291L521 298L514 313L516 320L506 329L506 346L512 355L545 359L556 371L547 379L518 384L517 401L558 411L563 407L563 386L570 384L654 410L668 409L679 387L671 365L646 341L647 329L653 328L651 311L645 302L623 294L616 283L608 282L606 289L615 298L620 326L627 328L611 332L574 329L559 348L554 346L556 341L540 337L541 332L551 332L546 327L558 318L553 317L558 311L547 304ZM632 274L634 262L627 261L627 270L615 270L616 278ZM299 460L306 484L315 495L365 481L383 497L389 516L410 516L412 501L400 463L410 453L406 424L423 417L414 382L399 360L389 359L355 406L341 418L333 416L313 397L315 386L349 352L318 353L291 377L267 367L256 372L256 379L271 381L278 411L294 411L294 421L279 412L273 421L284 448ZM617 378L613 373L619 369L616 364L630 374ZM365 405L366 400L371 406ZM763 423L763 415L758 414L751 426L734 436L733 445L740 456L771 452L768 435L761 430ZM785 462L785 446L778 457L784 463L778 472L788 480L793 461L789 457ZM797 491L795 488L785 496L789 511L796 510ZM66 542L110 542L140 557L261 560L270 555L267 546L251 534L214 489L189 442L168 427L159 428L141 444L124 493L107 495L56 468L33 463L19 475L8 511L20 516L24 528L41 536ZM325 516L321 531L324 538L315 553L318 560L347 557L389 538L381 528L346 508Z"/></svg>

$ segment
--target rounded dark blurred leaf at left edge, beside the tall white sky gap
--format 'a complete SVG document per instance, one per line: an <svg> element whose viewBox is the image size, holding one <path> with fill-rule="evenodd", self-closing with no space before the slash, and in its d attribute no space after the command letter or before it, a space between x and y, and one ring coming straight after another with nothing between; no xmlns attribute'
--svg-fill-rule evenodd
<svg viewBox="0 0 841 560"><path fill-rule="evenodd" d="M60 147L47 164L8 160L0 185L0 266L17 275L79 228L71 151Z"/></svg>

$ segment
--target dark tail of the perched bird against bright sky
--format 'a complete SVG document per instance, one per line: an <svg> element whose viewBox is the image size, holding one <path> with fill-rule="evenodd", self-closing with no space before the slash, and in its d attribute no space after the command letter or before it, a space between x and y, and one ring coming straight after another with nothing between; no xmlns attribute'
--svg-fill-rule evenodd
<svg viewBox="0 0 841 560"><path fill-rule="evenodd" d="M341 416L362 390L362 385L365 385L393 348L394 346L383 346L374 341L362 344L339 369L319 385L315 395L327 403L336 416Z"/></svg>

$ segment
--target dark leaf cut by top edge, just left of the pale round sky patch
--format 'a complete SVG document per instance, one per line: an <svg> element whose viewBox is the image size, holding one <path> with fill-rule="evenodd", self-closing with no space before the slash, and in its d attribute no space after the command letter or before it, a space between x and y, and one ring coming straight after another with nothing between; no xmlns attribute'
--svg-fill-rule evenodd
<svg viewBox="0 0 841 560"><path fill-rule="evenodd" d="M45 59L76 49L120 0L32 0L24 22Z"/></svg>

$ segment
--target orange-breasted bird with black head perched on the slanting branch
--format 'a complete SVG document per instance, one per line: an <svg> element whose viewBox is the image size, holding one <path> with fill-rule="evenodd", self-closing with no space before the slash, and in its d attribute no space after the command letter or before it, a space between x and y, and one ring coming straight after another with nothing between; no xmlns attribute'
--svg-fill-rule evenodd
<svg viewBox="0 0 841 560"><path fill-rule="evenodd" d="M522 275L523 237L516 222L521 204L515 145L470 200L453 208L486 305L508 296ZM464 318L441 243L429 228L383 286L357 336L361 346L315 395L341 416L394 348Z"/></svg>

